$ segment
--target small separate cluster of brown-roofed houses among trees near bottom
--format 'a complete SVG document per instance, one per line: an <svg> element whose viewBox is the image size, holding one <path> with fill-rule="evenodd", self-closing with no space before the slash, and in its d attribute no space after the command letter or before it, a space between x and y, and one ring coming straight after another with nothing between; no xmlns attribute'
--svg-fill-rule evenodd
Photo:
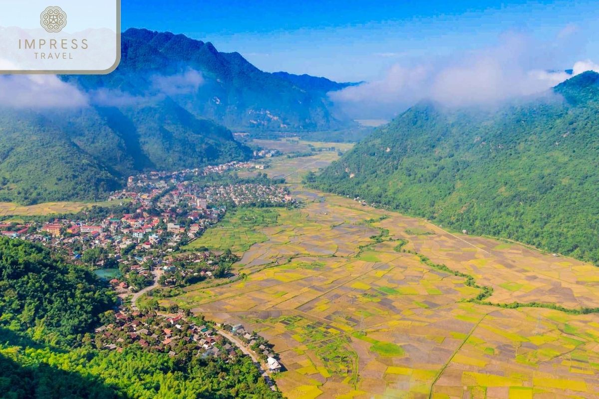
<svg viewBox="0 0 599 399"><path fill-rule="evenodd" d="M114 322L96 328L96 346L123 351L128 345L140 345L149 351L170 356L237 355L235 347L209 325L196 325L182 315L165 317L120 310Z"/></svg>

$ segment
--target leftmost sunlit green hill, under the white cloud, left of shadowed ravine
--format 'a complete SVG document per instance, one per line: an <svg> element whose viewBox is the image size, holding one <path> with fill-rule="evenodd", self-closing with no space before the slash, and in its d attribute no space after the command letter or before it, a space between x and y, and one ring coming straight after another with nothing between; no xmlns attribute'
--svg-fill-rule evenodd
<svg viewBox="0 0 599 399"><path fill-rule="evenodd" d="M119 186L119 178L101 160L42 115L0 112L0 200L94 199Z"/></svg>

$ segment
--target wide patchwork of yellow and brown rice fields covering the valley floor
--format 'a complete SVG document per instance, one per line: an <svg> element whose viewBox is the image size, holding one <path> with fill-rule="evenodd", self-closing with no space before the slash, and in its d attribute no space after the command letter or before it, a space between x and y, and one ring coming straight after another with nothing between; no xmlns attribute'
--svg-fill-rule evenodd
<svg viewBox="0 0 599 399"><path fill-rule="evenodd" d="M291 188L304 208L250 227L233 217L206 237L243 249L246 279L163 300L267 338L286 397L599 396L598 313L473 303L479 288L417 254L492 287L493 304L599 306L594 266ZM231 239L243 229L261 239Z"/></svg>

